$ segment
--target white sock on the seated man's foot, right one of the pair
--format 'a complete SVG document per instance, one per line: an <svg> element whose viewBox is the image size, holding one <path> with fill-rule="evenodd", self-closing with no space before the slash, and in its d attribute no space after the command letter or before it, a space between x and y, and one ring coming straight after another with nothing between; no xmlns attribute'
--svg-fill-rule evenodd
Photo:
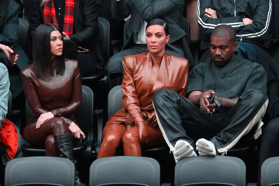
<svg viewBox="0 0 279 186"><path fill-rule="evenodd" d="M196 142L196 149L197 149L199 155L202 155L202 156L216 155L215 145L212 142L205 140L204 138L201 138Z"/></svg>

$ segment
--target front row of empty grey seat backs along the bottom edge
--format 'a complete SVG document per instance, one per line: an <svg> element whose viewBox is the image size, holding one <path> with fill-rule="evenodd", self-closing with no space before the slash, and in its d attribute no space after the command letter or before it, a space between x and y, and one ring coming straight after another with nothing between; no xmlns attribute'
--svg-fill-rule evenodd
<svg viewBox="0 0 279 186"><path fill-rule="evenodd" d="M74 164L65 158L39 156L17 158L6 166L5 185L74 186L74 171ZM279 157L269 158L264 162L261 178L262 186L279 185ZM153 158L107 157L95 160L90 166L90 186L160 184L160 165ZM184 158L176 164L174 185L244 186L246 166L239 158L230 156Z"/></svg>

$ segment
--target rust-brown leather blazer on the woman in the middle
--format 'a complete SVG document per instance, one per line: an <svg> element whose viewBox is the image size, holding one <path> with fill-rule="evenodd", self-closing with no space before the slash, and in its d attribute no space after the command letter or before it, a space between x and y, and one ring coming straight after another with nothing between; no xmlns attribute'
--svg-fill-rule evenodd
<svg viewBox="0 0 279 186"><path fill-rule="evenodd" d="M126 56L122 63L124 74L121 88L124 94L124 109L113 115L107 124L125 123L128 128L132 122L137 125L137 122L147 120L154 111L152 96L159 89L168 88L185 96L189 68L187 59L165 53L151 91L152 60L149 52ZM128 105L131 105L129 112Z"/></svg>

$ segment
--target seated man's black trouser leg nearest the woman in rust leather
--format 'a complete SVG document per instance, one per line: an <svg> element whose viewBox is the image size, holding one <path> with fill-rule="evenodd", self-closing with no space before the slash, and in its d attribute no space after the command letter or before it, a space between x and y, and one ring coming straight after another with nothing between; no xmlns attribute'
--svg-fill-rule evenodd
<svg viewBox="0 0 279 186"><path fill-rule="evenodd" d="M171 150L178 140L185 140L194 147L194 140L204 133L201 124L206 121L204 128L213 128L215 123L213 115L169 89L161 89L154 94L153 106L158 125Z"/></svg>

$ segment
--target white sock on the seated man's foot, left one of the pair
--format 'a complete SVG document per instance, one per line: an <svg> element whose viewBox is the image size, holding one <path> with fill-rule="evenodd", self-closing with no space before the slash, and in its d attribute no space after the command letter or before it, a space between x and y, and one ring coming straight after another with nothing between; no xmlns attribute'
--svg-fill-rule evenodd
<svg viewBox="0 0 279 186"><path fill-rule="evenodd" d="M194 148L184 140L178 140L174 146L174 159L177 163L182 158L196 156Z"/></svg>

